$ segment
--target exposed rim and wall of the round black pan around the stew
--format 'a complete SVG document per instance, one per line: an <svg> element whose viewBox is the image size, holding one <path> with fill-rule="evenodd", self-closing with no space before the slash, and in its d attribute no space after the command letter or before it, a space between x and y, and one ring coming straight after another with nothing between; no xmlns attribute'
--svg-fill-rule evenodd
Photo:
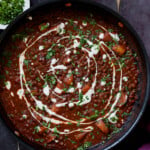
<svg viewBox="0 0 150 150"><path fill-rule="evenodd" d="M100 13L101 15L104 15L106 17L109 16L111 18L112 23L121 21L125 28L125 33L128 35L128 41L131 42L133 45L133 48L136 47L137 54L139 57L139 69L141 71L139 76L139 90L138 90L138 100L134 104L134 107L132 109L132 115L128 118L126 123L123 125L122 130L113 135L112 138L106 141L105 144L97 144L95 146L92 146L89 149L111 149L114 148L118 143L120 143L122 140L124 140L129 133L134 129L134 127L139 122L139 119L141 118L144 109L146 107L148 96L149 96L149 90L150 90L150 70L149 70L149 60L148 56L146 54L146 50L144 48L144 45L137 35L136 31L131 27L131 25L118 13L114 12L113 10L107 8L106 6L93 2L92 0L76 0L76 1L62 1L62 0L51 0L51 1L44 1L38 4L35 7L30 8L29 10L25 11L23 14L21 14L19 17L17 17L9 26L8 28L2 33L0 37L0 54L2 53L1 47L3 44L5 44L5 41L7 41L7 38L11 35L13 30L17 28L17 26L21 25L23 20L28 16L32 15L36 11L42 12L43 10L49 10L51 8L60 8L65 7L65 3L71 2L72 6L75 7L78 10L80 9L88 9L88 10L94 10L97 11L97 13ZM39 16L40 17L40 16ZM0 114L1 118L4 120L5 124L11 129L11 131L15 131L15 127L8 119L5 110L3 109L3 106L0 105ZM22 139L22 140L21 140ZM27 146L27 149L41 149L39 145L36 145L34 143L31 143L24 137L20 137L19 140L23 143L25 142L25 145ZM29 146L30 145L30 146Z"/></svg>

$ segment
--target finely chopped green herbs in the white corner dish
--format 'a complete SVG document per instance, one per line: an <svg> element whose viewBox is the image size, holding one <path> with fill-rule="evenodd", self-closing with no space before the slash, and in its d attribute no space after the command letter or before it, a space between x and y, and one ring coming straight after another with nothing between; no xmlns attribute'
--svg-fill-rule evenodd
<svg viewBox="0 0 150 150"><path fill-rule="evenodd" d="M23 11L24 0L0 0L0 24L9 24Z"/></svg>

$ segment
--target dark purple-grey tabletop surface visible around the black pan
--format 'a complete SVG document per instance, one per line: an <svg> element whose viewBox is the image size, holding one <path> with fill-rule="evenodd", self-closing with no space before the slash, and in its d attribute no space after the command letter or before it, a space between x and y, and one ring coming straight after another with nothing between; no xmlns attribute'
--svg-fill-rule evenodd
<svg viewBox="0 0 150 150"><path fill-rule="evenodd" d="M43 0L31 0L31 6ZM117 10L116 0L95 0ZM150 60L150 0L122 0L120 14L135 28L143 40ZM145 145L147 144L147 145ZM0 122L0 150L28 150ZM135 130L115 150L150 150L150 101Z"/></svg>

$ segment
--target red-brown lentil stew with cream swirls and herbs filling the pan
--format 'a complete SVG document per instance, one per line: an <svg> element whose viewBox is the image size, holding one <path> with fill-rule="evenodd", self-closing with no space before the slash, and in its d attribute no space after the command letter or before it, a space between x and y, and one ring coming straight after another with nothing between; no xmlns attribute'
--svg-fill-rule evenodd
<svg viewBox="0 0 150 150"><path fill-rule="evenodd" d="M1 103L17 136L48 149L81 150L121 130L139 75L124 28L69 8L26 18L1 60Z"/></svg>

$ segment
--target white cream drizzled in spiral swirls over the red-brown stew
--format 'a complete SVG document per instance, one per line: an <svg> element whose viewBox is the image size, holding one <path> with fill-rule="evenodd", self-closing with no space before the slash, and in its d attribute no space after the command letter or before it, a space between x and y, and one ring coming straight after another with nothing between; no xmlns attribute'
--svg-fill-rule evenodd
<svg viewBox="0 0 150 150"><path fill-rule="evenodd" d="M75 22L74 22L75 23ZM20 68L20 85L21 85L21 89L19 89L17 91L17 95L19 96L20 99L22 99L22 97L24 97L24 100L28 106L28 109L31 113L31 115L39 122L39 124L41 124L41 122L36 118L35 114L40 116L44 121L46 122L51 122L51 123L54 123L54 124L67 124L68 122L71 122L71 123L75 123L77 124L78 122L77 121L74 121L74 120L70 120L70 119L67 119L55 112L53 112L51 109L48 108L48 106L44 105L41 101L37 100L31 93L31 90L30 88L28 87L28 85L26 84L26 78L25 78L25 73L24 73L24 70L23 70L23 62L25 60L25 53L26 51L31 48L36 42L38 42L41 38L43 38L44 36L47 36L48 34L52 33L52 32L58 32L59 34L63 34L64 33L64 28L65 28L65 25L67 25L66 23L60 23L59 25L57 25L55 28L53 29L50 29L48 31L46 31L45 33L41 34L39 37L37 37L31 44L27 45L26 49L21 53L20 57L19 57L19 68ZM103 29L104 31L107 31L103 26L101 25L98 25L101 29ZM110 33L110 35L113 37L113 39L115 40L118 40L119 41L119 36L117 34L113 34L113 33ZM56 43L59 43L61 40L63 39L67 39L69 38L69 36L65 36L65 37L62 37L61 39L59 39ZM75 39L76 38L76 39ZM100 35L99 36L100 39L103 38L103 35ZM79 35L76 35L74 36L74 44L72 46L70 46L69 48L65 48L65 54L66 55L69 55L71 53L71 49L72 48L77 48L79 45L80 45L80 42L78 42L77 39L80 39L80 36ZM99 52L99 49L100 47L102 48L102 50L106 53L105 55L109 58L109 60L111 60L111 57L110 55L105 51L105 48L102 46L102 44L105 45L105 43L103 41L101 41L98 45L96 44L93 44L93 42L89 41L88 39L86 39L87 43L92 46L90 51L87 50L86 48L82 47L81 50L85 51L88 53L88 57L87 57L87 61L88 61L88 68L90 66L90 59L93 59L94 63L95 63L95 68L96 68L96 71L95 71L95 75L94 75L94 81L90 87L90 89L83 95L83 101L79 103L79 101L77 102L64 102L64 103L57 103L57 100L55 98L51 98L51 101L56 103L56 107L64 107L64 106L69 106L69 107L74 107L75 104L78 104L79 105L85 105L87 103L89 103L91 101L91 97L92 97L92 94L95 93L95 86L96 86L96 82L97 82L97 62L95 60L95 55L98 54ZM107 46L107 45L105 45ZM39 50L41 48L39 47ZM108 48L109 49L109 48ZM42 50L42 49L41 49ZM114 52L109 49L109 51L114 55L115 59L117 60L117 57L116 55L114 54ZM55 72L56 69L62 69L62 70L66 70L67 67L64 66L64 65L55 65L56 63L58 62L57 59L52 59L51 60L51 64L50 64L50 68L47 72ZM121 65L120 63L118 62L119 64L119 67L121 68ZM54 66L55 65L55 66ZM112 82L112 89L111 89L111 96L105 106L105 109L109 106L110 102L111 102L111 99L112 99L112 91L115 87L115 76L116 76L116 69L115 69L115 65L113 64L112 62L112 67L113 67L113 82ZM28 90L28 92L31 94L31 97L33 98L33 100L35 101L37 107L39 109L43 109L43 107L45 108L45 111L49 114L49 116L55 116L57 119L61 119L63 121L60 121L60 120L57 120L57 119L53 119L51 117L46 117L44 116L43 114L40 114L39 112L37 112L33 107L31 107L31 104L28 102L28 100L26 99L25 95L24 95L24 88L23 88L23 84L25 83L25 87L26 89ZM87 82L88 82L88 78L87 78ZM77 88L79 89L79 92L81 92L81 87L82 87L82 84L81 83L77 83ZM119 85L119 91L121 91L121 88L122 88L122 69L120 71L120 85ZM72 89L73 90L73 89ZM49 95L49 87L45 87L45 89L43 88L43 93L48 96ZM58 94L62 93L62 89L59 89L59 88L55 88L54 91ZM116 113L117 113L117 110L115 110L115 106L118 102L120 98L120 94L118 93L117 96L116 96L116 99L115 101L113 102L110 110L108 111L108 113L106 113L103 117L100 117L98 118L97 120L100 120L102 118L106 118L108 117L109 118L109 121L111 122L112 121L112 117L116 117ZM80 122L81 125L89 125L89 124L92 124L93 122L95 121L91 121L91 122L86 122L84 123L84 119ZM49 130L51 131L54 131L54 128L50 128ZM88 126L86 128L78 128L76 130L67 130L65 129L64 132L61 132L59 131L59 134L71 134L71 133L74 133L74 132L77 132L77 131L84 131L84 132L90 132L93 130L93 127L92 126Z"/></svg>

